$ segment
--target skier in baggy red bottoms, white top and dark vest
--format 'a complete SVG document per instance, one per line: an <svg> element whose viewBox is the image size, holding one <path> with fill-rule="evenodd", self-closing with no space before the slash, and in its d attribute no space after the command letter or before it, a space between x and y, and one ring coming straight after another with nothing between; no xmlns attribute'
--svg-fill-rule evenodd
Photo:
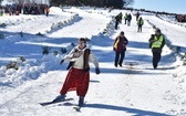
<svg viewBox="0 0 186 116"><path fill-rule="evenodd" d="M66 75L64 84L60 91L60 95L53 101L65 101L65 94L69 91L76 91L79 98L79 106L84 103L84 97L89 89L90 82L90 65L89 60L95 65L95 73L100 74L99 62L91 50L86 46L86 39L80 38L79 45L75 46L60 64L63 62L71 62L72 66Z"/></svg>

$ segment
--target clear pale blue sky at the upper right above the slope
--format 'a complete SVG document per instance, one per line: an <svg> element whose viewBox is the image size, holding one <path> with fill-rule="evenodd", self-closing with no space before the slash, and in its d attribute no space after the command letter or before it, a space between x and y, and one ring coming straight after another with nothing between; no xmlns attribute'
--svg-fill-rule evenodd
<svg viewBox="0 0 186 116"><path fill-rule="evenodd" d="M186 0L134 0L133 8L186 14Z"/></svg>

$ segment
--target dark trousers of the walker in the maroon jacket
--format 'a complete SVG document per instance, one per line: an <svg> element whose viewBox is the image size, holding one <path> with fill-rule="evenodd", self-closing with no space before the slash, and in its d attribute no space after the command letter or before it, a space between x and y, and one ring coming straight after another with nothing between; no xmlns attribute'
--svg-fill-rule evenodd
<svg viewBox="0 0 186 116"><path fill-rule="evenodd" d="M117 66L117 64L122 65L124 57L125 57L125 51L122 52L116 51L114 65L115 66Z"/></svg>

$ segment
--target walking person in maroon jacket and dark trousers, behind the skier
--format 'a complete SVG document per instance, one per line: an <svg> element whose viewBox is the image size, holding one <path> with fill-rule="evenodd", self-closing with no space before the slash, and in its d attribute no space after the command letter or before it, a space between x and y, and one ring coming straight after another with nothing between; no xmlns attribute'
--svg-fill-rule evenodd
<svg viewBox="0 0 186 116"><path fill-rule="evenodd" d="M128 40L125 38L124 32L122 31L120 35L115 39L113 44L113 49L115 51L115 67L117 67L117 64L122 66L127 44Z"/></svg>

